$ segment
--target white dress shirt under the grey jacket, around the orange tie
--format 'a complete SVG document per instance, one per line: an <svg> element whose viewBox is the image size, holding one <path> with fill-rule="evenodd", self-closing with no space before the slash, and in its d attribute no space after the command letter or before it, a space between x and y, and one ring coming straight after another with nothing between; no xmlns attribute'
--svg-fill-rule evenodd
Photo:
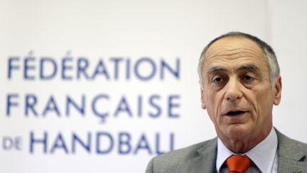
<svg viewBox="0 0 307 173"><path fill-rule="evenodd" d="M249 159L252 159L252 164L245 173L277 173L278 169L278 154L277 154L277 135L274 128L271 129L269 135L252 150L243 153L247 155ZM234 152L230 151L222 143L220 138L217 139L217 172L229 173L226 159L230 157Z"/></svg>

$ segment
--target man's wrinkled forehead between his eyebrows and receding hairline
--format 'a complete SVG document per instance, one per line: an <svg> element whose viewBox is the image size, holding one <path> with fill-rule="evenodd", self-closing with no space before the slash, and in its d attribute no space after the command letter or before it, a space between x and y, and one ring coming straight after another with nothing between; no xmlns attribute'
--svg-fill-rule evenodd
<svg viewBox="0 0 307 173"><path fill-rule="evenodd" d="M228 36L215 41L204 56L204 68L212 65L239 65L242 63L253 63L259 68L267 68L262 49L257 43L243 36Z"/></svg>

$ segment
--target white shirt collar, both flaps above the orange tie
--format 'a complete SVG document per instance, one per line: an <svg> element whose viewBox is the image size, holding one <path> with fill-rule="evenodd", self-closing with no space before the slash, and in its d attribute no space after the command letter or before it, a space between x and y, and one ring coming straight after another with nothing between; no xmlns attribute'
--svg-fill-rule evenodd
<svg viewBox="0 0 307 173"><path fill-rule="evenodd" d="M274 128L272 128L269 135L262 142L244 154L252 159L254 164L257 165L261 172L271 172L271 167L273 166L274 157L277 150L277 141L276 131ZM235 153L225 147L220 138L218 138L216 162L217 171L220 171L222 164L232 154Z"/></svg>

